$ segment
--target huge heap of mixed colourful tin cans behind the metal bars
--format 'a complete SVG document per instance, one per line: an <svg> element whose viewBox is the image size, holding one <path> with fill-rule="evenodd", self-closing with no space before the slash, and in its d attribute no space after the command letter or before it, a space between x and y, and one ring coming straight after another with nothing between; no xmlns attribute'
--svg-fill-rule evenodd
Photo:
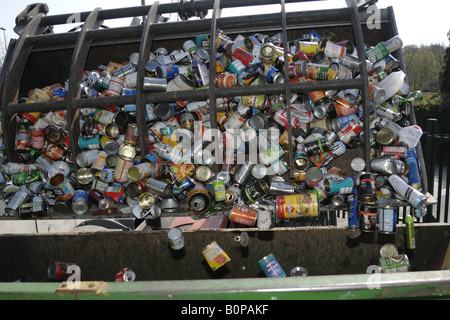
<svg viewBox="0 0 450 320"><path fill-rule="evenodd" d="M234 225L271 228L280 219L318 217L331 204L350 209L352 230L393 232L393 203L408 201L418 217L426 205L415 153L422 131L408 121L410 102L421 93L409 91L391 55L401 46L396 36L367 48L362 67L369 72L370 123L363 123L357 89L220 98L218 128L211 128L209 100L148 104L146 132L138 132L135 105L86 108L80 109L82 153L71 159L64 111L19 114L16 152L22 163L2 165L5 212L25 218L45 216L48 208L85 214L90 207L122 206L136 218L153 219L179 210L196 217L225 211ZM286 55L280 34L221 34L214 79L210 49L204 35L174 52L155 50L145 66L144 90L360 77L352 42L329 32L289 41ZM133 53L125 62L85 71L82 96L136 94L137 61ZM65 99L67 85L32 90L21 102ZM370 172L360 157L347 159L350 172L334 167L333 160L364 145L364 126L370 126ZM150 145L145 157L139 134ZM36 202L39 209L26 214Z"/></svg>

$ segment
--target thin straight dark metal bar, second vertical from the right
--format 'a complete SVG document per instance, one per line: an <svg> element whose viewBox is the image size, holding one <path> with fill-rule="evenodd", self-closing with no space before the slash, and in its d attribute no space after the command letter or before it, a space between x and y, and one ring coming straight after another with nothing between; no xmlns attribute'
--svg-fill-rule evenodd
<svg viewBox="0 0 450 320"><path fill-rule="evenodd" d="M294 150L292 148L292 112L291 112L291 88L289 83L289 43L287 39L287 18L286 18L286 1L281 0L281 25L283 27L282 32L282 40L284 47L284 65L283 65L283 73L284 73L284 93L286 94L286 111L287 111L287 130L288 130L288 144L289 144L289 154L287 155L289 161L289 178L291 181L294 180Z"/></svg>

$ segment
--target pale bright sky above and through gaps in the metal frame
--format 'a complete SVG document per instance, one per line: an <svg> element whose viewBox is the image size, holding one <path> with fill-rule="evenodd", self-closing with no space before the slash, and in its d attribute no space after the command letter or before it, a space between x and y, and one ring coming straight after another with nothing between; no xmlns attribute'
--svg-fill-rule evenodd
<svg viewBox="0 0 450 320"><path fill-rule="evenodd" d="M153 0L144 0L146 5L151 5ZM168 3L172 0L160 0L160 3ZM58 15L76 12L91 11L97 7L102 9L113 9L122 7L139 6L142 0L77 0L77 1L62 1L62 0L47 0L42 1L49 6L48 15ZM11 38L18 38L18 35L13 31L15 26L16 16L26 8L30 3L36 3L31 0L14 0L2 2L2 10L0 11L0 28L6 29L3 34L0 30L0 49L4 45L4 38L6 43L9 43ZM294 7L295 6L295 7ZM392 6L397 21L399 35L403 40L404 45L429 45L441 44L444 46L450 45L447 38L447 32L450 31L450 19L448 14L450 12L450 1L448 0L379 0L377 3L379 8L386 8ZM345 0L328 0L328 1L314 1L300 4L288 4L288 11L302 11L302 10L317 10L318 8L342 8L346 7ZM279 5L269 6L264 10L280 10ZM224 10L223 16L239 15L242 10L227 11ZM252 11L253 13L257 11ZM266 11L267 12L267 11ZM244 13L246 14L246 13ZM122 19L120 21L106 21L105 25L123 26L129 25L131 18ZM75 25L65 25L64 27L55 28L55 32L65 32L72 29Z"/></svg>

